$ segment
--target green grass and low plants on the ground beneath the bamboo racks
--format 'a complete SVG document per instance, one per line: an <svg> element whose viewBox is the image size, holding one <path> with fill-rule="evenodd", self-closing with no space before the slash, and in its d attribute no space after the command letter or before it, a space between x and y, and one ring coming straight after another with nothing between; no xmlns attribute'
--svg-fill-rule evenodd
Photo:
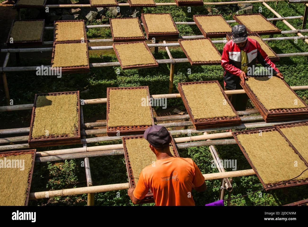
<svg viewBox="0 0 308 227"><path fill-rule="evenodd" d="M211 0L212 1L212 0ZM167 1L157 1L167 2ZM172 2L172 1L169 1ZM218 1L216 1L218 2ZM286 2L279 2L278 6L275 2L268 3L274 10L282 16L303 15L304 6L302 4L288 4ZM254 3L254 13L258 13L258 7L262 7L262 14L267 17L273 17L273 14L265 8L261 3ZM159 6L156 8L145 8L145 13L161 13L170 12L175 21L193 21L195 14L208 14L209 10L213 14L220 13L225 19L232 20L232 6L226 7L223 11L218 11L213 6L192 7L192 12L187 13L186 7L177 6ZM108 17L103 23L109 23ZM301 28L301 19L288 20L297 29ZM97 22L87 22L87 24L97 24ZM277 26L281 30L290 30L281 21L277 22ZM201 35L197 26L179 25L180 35ZM307 35L304 33L303 35ZM282 35L275 35L280 37ZM295 34L287 34L283 36L295 36ZM46 33L45 38L48 41L52 39L52 32ZM109 28L95 28L88 29L87 37L90 39L110 39L111 32ZM264 38L268 36L263 36ZM308 52L308 44L302 40L294 43L293 40L272 41L269 42L271 48L276 53L297 53ZM223 44L216 44L218 50L222 52ZM185 57L180 48L170 48L174 58ZM25 55L21 55L21 65L50 65L50 60L40 60L36 57L25 60ZM168 55L164 50L159 51L155 55L156 59L167 59ZM278 69L282 71L286 82L290 86L308 85L308 58L305 57L284 57L277 63ZM111 62L117 61L114 54L91 54L90 62ZM9 66L16 66L14 61L10 61ZM151 69L133 69L122 70L120 74L116 74L119 67L104 67L92 68L89 74L74 74L63 75L62 78L55 78L49 76L36 76L34 72L12 72L7 73L7 80L10 88L11 99L14 104L28 104L33 103L35 93L57 92L57 91L71 91L80 90L81 99L95 99L105 98L107 87L125 87L125 86L149 86L150 94L166 94L168 93L169 68L167 64L161 64L157 68ZM191 74L187 74L188 69L191 69ZM180 63L175 66L174 74L174 93L177 91L178 82L192 82L192 81L206 81L218 80L223 85L223 69L220 65L207 66L191 66L189 63ZM87 93L82 91L88 90ZM296 93L307 101L307 90L296 91ZM0 100L1 105L4 106L5 100ZM184 104L181 99L169 99L167 103L169 108L178 108L184 110ZM160 107L155 108L157 111ZM95 117L103 119L106 114L106 104L86 105L83 108L85 122ZM30 125L30 111L11 111L0 113L2 121L6 122L4 128L12 128L9 122L24 122L22 127L29 127ZM15 126L14 128L19 128ZM184 137L182 135L180 137ZM90 136L93 137L93 136ZM121 141L100 142L95 145L118 144ZM41 150L63 149L68 147L80 147L80 145L48 147ZM216 146L217 152L221 159L236 159L237 170L250 169L249 163L246 161L244 155L237 145L220 145ZM217 169L211 167L212 156L209 153L208 147L195 147L189 149L179 150L181 157L192 158L203 174L217 172ZM34 169L33 183L31 185L31 192L59 190L62 188L85 187L86 177L84 167L82 167L83 159L73 159L65 162L51 162L51 163L36 163ZM124 157L119 156L103 156L90 158L91 173L94 185L114 184L128 182ZM227 169L231 171L231 169ZM193 198L196 205L204 205L213 202L219 198L220 180L207 181L208 189L206 192L193 192ZM253 175L248 177L235 177L232 181L233 191L231 197L235 198L245 195L249 192L262 188L259 179ZM262 191L262 196L259 193L249 195L247 197L232 200L231 205L283 205L294 201L307 199L304 193L308 186L291 187L282 190ZM127 190L110 191L104 193L95 193L96 205L132 205L128 196ZM117 197L120 195L120 197ZM226 197L227 198L227 194ZM30 205L86 205L87 195L56 197L50 199L40 199L38 201L31 200Z"/></svg>

